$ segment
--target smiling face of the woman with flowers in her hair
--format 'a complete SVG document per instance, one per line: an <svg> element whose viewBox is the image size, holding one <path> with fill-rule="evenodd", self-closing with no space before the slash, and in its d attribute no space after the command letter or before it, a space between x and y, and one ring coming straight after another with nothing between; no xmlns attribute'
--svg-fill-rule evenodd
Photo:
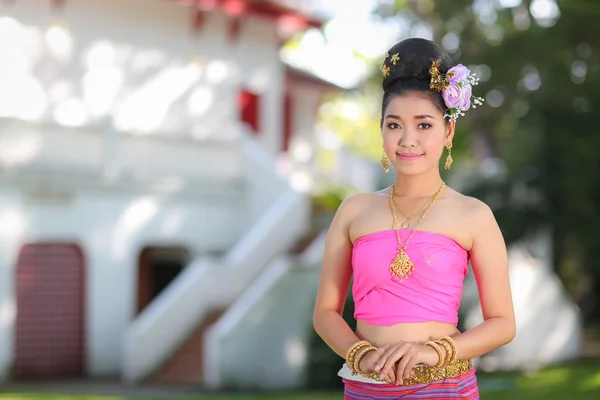
<svg viewBox="0 0 600 400"><path fill-rule="evenodd" d="M383 148L399 173L417 175L439 168L444 145L452 141L454 122L418 92L392 98L383 114Z"/></svg>

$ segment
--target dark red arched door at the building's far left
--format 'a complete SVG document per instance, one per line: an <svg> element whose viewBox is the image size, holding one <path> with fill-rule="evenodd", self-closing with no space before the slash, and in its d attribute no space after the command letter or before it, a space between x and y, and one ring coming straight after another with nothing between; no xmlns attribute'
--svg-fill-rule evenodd
<svg viewBox="0 0 600 400"><path fill-rule="evenodd" d="M16 267L15 379L84 374L84 260L77 245L27 244Z"/></svg>

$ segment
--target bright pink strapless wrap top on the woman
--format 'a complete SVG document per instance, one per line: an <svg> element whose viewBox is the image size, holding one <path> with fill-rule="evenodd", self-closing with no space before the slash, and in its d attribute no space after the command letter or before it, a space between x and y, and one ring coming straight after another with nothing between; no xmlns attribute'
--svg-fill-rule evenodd
<svg viewBox="0 0 600 400"><path fill-rule="evenodd" d="M402 243L411 230L400 231ZM456 325L468 252L448 236L416 231L406 254L415 265L402 283L390 273L396 231L359 238L352 249L354 318L372 325L437 321Z"/></svg>

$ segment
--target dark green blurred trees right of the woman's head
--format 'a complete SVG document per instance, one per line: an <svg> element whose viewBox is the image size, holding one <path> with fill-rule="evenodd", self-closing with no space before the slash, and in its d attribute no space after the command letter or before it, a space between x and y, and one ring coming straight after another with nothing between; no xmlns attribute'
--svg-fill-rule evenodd
<svg viewBox="0 0 600 400"><path fill-rule="evenodd" d="M425 22L438 43L456 35L455 61L489 75L475 87L487 101L459 120L457 139L505 173L473 179L467 194L492 206L508 242L550 231L556 271L586 320L600 322L600 5L558 1L558 19L536 21L531 3L396 1L394 11Z"/></svg>

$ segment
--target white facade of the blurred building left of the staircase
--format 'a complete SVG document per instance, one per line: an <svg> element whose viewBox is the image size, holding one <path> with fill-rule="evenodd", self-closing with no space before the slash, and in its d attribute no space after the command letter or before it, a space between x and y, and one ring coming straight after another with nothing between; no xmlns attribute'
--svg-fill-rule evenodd
<svg viewBox="0 0 600 400"><path fill-rule="evenodd" d="M274 24L246 19L232 45L226 16L208 15L196 35L191 17L165 0L0 7L0 37L11 38L0 41L0 117L9 122L0 126L0 379L12 362L23 242L81 243L88 370L115 374L140 249L225 250L285 187L274 164L232 147L241 143L237 93L249 88L262 96L257 142L281 148Z"/></svg>

